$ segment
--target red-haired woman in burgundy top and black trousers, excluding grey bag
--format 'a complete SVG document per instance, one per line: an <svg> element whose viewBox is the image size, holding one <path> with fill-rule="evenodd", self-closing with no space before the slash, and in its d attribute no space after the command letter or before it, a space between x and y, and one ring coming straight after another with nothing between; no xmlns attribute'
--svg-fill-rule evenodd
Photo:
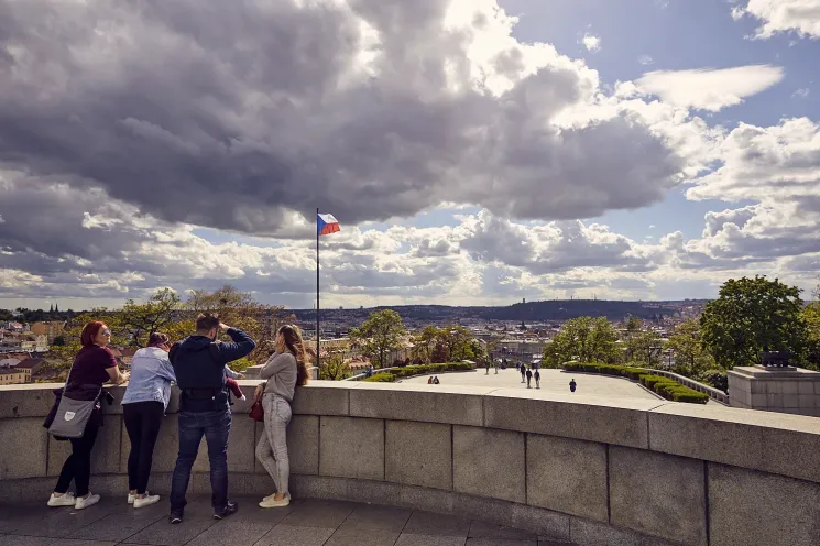
<svg viewBox="0 0 820 546"><path fill-rule="evenodd" d="M68 372L66 393L101 389L102 384L108 381L116 384L128 381L128 374L120 372L113 353L107 348L110 341L111 330L105 323L95 320L83 328L80 336L83 348L74 358L74 364ZM88 419L83 437L70 438L72 455L63 465L57 487L54 488L54 493L48 498L50 506L74 506L81 510L96 504L100 500L100 495L91 494L88 491L88 481L91 476L91 449L101 425L102 416L97 410ZM76 496L68 492L72 480L77 488Z"/></svg>

